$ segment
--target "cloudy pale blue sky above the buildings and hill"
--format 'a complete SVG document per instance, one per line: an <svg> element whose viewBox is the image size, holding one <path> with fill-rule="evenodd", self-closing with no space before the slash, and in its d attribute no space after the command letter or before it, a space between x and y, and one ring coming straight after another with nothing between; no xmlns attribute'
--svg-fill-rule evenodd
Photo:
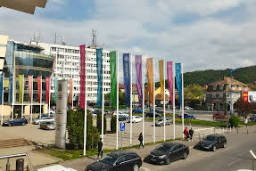
<svg viewBox="0 0 256 171"><path fill-rule="evenodd" d="M255 0L48 0L34 15L0 8L0 34L29 43L65 37L156 61L183 62L185 71L256 64Z"/></svg>

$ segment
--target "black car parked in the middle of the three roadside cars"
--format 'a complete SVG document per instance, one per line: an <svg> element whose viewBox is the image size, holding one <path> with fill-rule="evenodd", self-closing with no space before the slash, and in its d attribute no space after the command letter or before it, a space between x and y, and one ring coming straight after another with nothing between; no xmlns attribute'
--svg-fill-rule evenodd
<svg viewBox="0 0 256 171"><path fill-rule="evenodd" d="M186 159L188 147L181 143L164 142L150 152L149 161L154 164L169 165L171 161Z"/></svg>

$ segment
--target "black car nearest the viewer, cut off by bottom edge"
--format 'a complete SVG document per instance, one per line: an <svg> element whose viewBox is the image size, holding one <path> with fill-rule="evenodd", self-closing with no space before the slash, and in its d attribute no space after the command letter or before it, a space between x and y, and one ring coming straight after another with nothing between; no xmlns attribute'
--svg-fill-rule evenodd
<svg viewBox="0 0 256 171"><path fill-rule="evenodd" d="M137 171L141 166L142 159L135 152L114 151L100 161L88 165L86 171Z"/></svg>

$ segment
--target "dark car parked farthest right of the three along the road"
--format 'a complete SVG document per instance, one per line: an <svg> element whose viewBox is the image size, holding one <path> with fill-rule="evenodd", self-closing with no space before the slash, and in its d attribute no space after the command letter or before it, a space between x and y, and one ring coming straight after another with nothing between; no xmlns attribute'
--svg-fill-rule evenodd
<svg viewBox="0 0 256 171"><path fill-rule="evenodd" d="M202 150L216 151L227 146L227 138L222 134L209 134L198 143L198 146Z"/></svg>

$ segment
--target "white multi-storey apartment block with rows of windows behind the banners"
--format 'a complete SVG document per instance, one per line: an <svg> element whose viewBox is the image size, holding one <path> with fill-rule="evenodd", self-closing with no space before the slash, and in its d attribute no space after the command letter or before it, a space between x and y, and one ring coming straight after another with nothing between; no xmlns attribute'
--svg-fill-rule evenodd
<svg viewBox="0 0 256 171"><path fill-rule="evenodd" d="M58 79L73 78L73 101L78 102L80 90L80 51L79 46L54 45L31 42L31 45L39 45L45 50L43 53L55 57L54 75ZM103 92L111 91L111 71L110 71L110 51L103 50ZM97 69L96 69L96 50L86 47L86 77L87 77L87 101L96 102L97 99ZM53 79L54 80L54 79ZM69 88L70 89L70 88ZM54 83L51 83L51 93L54 93Z"/></svg>

